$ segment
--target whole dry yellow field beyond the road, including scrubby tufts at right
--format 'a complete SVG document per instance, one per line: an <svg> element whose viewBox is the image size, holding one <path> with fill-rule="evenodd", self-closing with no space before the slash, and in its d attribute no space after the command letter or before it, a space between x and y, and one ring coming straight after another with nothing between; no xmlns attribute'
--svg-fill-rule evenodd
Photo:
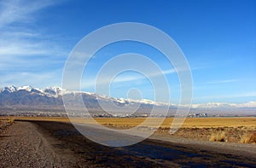
<svg viewBox="0 0 256 168"><path fill-rule="evenodd" d="M25 120L70 122L68 118L15 117ZM114 129L128 129L140 125L146 118L96 118L96 121ZM78 123L92 124L90 119L73 118ZM151 118L150 123L158 122ZM156 134L170 136L173 118L166 118ZM147 125L151 128L152 125ZM172 136L213 142L256 143L256 118L187 118L181 129Z"/></svg>

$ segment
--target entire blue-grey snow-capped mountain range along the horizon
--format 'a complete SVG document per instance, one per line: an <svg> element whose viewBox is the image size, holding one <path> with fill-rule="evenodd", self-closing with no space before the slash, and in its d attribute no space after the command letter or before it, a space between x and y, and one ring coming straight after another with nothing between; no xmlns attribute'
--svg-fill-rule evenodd
<svg viewBox="0 0 256 168"><path fill-rule="evenodd" d="M62 96L75 95L82 96L86 107L93 109L101 109L98 101L101 101L106 106L113 102L119 107L128 105L139 105L142 110L146 110L153 106L156 107L171 107L177 108L177 105L169 105L168 103L155 102L151 100L132 100L124 98L113 98L110 96L97 95L90 92L64 90L61 87L48 87L45 89L33 88L30 85L15 87L13 85L0 89L0 107L6 106L48 106L48 107L63 107ZM75 103L76 98L71 102ZM189 105L181 105L180 107L189 107ZM247 103L224 103L224 102L208 102L205 104L192 104L194 109L228 109L228 108L256 108L256 101Z"/></svg>

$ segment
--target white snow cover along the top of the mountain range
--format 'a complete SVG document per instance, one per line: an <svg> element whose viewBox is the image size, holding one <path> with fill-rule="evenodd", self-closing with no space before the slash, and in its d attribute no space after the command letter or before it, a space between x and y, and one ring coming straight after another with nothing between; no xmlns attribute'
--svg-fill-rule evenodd
<svg viewBox="0 0 256 168"><path fill-rule="evenodd" d="M189 107L189 105L178 106L175 104L169 104L169 103L164 103L164 102L155 102L155 101L151 101L151 100L147 100L147 99L132 100L132 99L125 99L125 98L113 98L110 96L98 95L96 93L65 90L58 86L47 87L45 89L38 89L38 88L33 88L30 85L21 86L21 87L15 87L13 85L10 85L8 87L4 87L4 88L0 89L0 99L1 98L3 99L3 96L6 96L6 94L9 95L9 94L15 94L18 92L20 93L20 91L26 91L26 96L27 96L27 94L31 94L33 96L33 98L34 98L34 96L46 96L49 98L58 98L61 100L61 96L66 95L66 94L82 94L84 97L87 97L86 99L88 101L90 101L91 103L93 103L97 100L100 100L100 101L104 101L107 103L110 101L114 101L115 103L118 103L119 105L123 104L124 106L126 106L127 104L139 103L139 104L143 104L145 106L155 105L155 106L159 106L159 107L166 107L166 106L171 105L172 107ZM17 94L15 94L15 96L17 96ZM14 97L14 98L16 99L16 97ZM10 100L10 97L9 97L9 100ZM48 101L46 101L46 102L48 102ZM53 101L52 104L54 102L55 101ZM208 103L203 103L203 104L192 104L191 107L199 108L199 109L200 108L201 109L256 108L256 101L249 101L246 103L208 102Z"/></svg>

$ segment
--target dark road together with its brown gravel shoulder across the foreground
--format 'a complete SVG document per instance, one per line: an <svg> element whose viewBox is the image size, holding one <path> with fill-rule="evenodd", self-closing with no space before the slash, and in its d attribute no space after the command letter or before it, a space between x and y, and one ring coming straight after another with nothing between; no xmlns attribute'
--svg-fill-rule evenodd
<svg viewBox="0 0 256 168"><path fill-rule="evenodd" d="M0 167L256 166L253 144L225 148L225 143L162 140L165 141L148 139L125 148L111 148L91 142L67 123L15 122L0 136ZM243 147L251 150L242 150Z"/></svg>

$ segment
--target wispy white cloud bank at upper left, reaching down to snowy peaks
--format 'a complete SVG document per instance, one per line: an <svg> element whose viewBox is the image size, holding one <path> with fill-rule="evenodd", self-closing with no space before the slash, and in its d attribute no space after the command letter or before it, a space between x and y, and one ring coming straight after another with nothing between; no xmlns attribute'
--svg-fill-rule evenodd
<svg viewBox="0 0 256 168"><path fill-rule="evenodd" d="M0 2L0 78L2 85L43 84L40 78L55 80L56 64L63 63L66 49L44 34L37 24L39 11L61 1L10 0ZM60 67L57 67L60 68ZM36 72L35 72L36 71ZM60 74L61 75L61 74ZM52 78L52 79L50 79ZM58 79L58 84L61 81ZM43 86L43 85L42 85Z"/></svg>

